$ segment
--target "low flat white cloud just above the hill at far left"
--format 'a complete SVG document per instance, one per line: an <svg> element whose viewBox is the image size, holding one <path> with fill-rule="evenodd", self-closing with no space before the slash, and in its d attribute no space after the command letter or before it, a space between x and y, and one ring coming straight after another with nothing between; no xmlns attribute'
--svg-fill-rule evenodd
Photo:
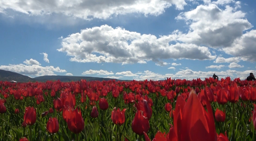
<svg viewBox="0 0 256 141"><path fill-rule="evenodd" d="M33 76L46 76L55 75L54 72L64 73L67 72L65 69L59 67L54 68L53 66L39 66L39 65L24 65L24 64L9 64L8 66L1 65L0 69L19 73L22 75L33 75Z"/></svg>

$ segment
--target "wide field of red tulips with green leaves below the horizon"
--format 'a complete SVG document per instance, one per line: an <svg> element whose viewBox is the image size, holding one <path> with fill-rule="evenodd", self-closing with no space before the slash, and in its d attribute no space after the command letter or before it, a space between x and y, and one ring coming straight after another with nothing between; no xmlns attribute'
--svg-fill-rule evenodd
<svg viewBox="0 0 256 141"><path fill-rule="evenodd" d="M0 81L1 141L256 141L256 83Z"/></svg>

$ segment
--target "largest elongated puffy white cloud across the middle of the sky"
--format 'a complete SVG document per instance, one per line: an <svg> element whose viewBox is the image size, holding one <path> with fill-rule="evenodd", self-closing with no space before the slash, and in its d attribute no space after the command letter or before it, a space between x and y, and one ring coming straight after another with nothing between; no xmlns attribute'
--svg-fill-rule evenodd
<svg viewBox="0 0 256 141"><path fill-rule="evenodd" d="M114 29L111 26L102 25L69 35L62 39L62 48L57 50L72 56L70 61L76 62L132 64L145 63L145 60L159 62L159 59L170 58L200 60L216 58L204 46L187 43L169 45L169 42L175 41L177 36L173 33L157 39L154 35L141 35L121 27Z"/></svg>

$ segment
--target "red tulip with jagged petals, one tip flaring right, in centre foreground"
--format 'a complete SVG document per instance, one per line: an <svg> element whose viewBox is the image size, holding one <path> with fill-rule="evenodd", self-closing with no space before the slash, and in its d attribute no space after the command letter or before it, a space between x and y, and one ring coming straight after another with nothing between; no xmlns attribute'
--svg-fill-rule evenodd
<svg viewBox="0 0 256 141"><path fill-rule="evenodd" d="M125 121L125 110L123 109L122 112L120 111L120 108L116 109L116 107L113 109L111 113L111 119L114 124L122 125Z"/></svg>

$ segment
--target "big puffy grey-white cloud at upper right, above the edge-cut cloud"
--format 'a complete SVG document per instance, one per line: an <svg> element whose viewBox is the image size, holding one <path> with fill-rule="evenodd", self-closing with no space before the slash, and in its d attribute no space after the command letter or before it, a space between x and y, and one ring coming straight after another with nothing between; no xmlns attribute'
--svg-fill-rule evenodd
<svg viewBox="0 0 256 141"><path fill-rule="evenodd" d="M219 0L216 4L224 4L228 0ZM188 12L180 13L176 19L185 20L189 32L177 39L196 45L207 45L213 48L229 47L243 31L252 28L242 11L235 7L225 6L220 9L216 4L199 5Z"/></svg>

